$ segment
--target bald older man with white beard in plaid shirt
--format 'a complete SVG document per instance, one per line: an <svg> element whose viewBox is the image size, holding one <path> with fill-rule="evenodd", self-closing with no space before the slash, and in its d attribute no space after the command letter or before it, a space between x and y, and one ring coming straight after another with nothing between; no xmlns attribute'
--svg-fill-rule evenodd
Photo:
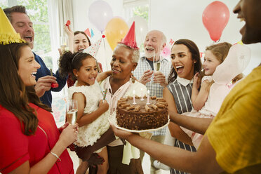
<svg viewBox="0 0 261 174"><path fill-rule="evenodd" d="M161 58L161 51L166 46L166 36L159 30L152 30L147 33L144 41L145 56L140 58L137 67L133 72L133 76L147 86L149 95L156 95L157 98L162 98L163 88L168 85L168 74L170 73L171 62L166 58ZM153 66L154 62L160 62L160 69L156 71ZM166 134L166 127L159 131L154 131L152 139L163 144ZM142 161L144 152L140 152L140 159ZM157 169L153 166L152 157L151 173L157 173Z"/></svg>

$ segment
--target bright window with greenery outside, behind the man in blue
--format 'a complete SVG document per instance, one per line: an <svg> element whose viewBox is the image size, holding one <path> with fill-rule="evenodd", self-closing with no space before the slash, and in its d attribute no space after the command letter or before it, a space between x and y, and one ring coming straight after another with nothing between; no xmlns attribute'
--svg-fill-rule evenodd
<svg viewBox="0 0 261 174"><path fill-rule="evenodd" d="M0 0L1 8L22 5L25 6L30 19L34 26L34 53L39 55L49 69L52 68L53 72L58 69L58 22L57 19L57 6L55 1L52 0ZM55 13L55 14L54 14ZM61 113L65 108L57 109L57 106L62 106L64 100L61 96L65 96L65 88L60 92L53 93L53 112L56 121L64 121ZM62 112L60 111L62 110ZM58 118L58 119L57 119Z"/></svg>

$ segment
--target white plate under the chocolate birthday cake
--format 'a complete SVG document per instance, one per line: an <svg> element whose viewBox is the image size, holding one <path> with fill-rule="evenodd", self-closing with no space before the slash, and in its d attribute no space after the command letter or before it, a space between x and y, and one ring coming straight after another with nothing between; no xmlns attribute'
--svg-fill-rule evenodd
<svg viewBox="0 0 261 174"><path fill-rule="evenodd" d="M168 116L168 123L166 123L165 125L163 125L159 128L152 128L152 129L146 129L146 130L141 130L141 131L131 130L131 129L128 129L128 128L121 128L120 126L118 126L117 121L116 121L116 112L114 112L112 115L109 116L109 122L114 124L114 126L116 128L119 128L123 131L128 131L128 132L131 132L131 133L145 133L145 132L150 132L150 131L158 131L161 128L165 128L166 126L168 126L168 123L170 123L170 116Z"/></svg>

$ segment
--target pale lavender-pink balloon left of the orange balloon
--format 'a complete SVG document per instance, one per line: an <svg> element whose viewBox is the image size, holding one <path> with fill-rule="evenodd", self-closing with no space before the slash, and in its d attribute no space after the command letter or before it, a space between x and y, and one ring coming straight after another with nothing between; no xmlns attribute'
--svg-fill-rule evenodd
<svg viewBox="0 0 261 174"><path fill-rule="evenodd" d="M113 17L111 6L102 0L94 1L93 4L91 4L88 15L90 22L92 22L100 32L105 30L107 23Z"/></svg>

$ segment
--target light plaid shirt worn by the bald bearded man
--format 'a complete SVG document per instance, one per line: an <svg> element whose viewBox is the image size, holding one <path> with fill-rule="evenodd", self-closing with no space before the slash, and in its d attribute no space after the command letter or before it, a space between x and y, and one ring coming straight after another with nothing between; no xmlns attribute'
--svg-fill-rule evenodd
<svg viewBox="0 0 261 174"><path fill-rule="evenodd" d="M149 65L149 62L147 62L146 58L142 57L140 58L140 61L138 62L138 65L133 72L133 76L135 76L138 80L140 80L142 74L148 69L152 70L152 67ZM165 75L166 80L168 79L168 74L170 73L170 69L171 69L171 62L168 61L166 58L162 58L161 68L159 69L159 71ZM159 83L153 83L152 80L151 82L146 83L146 87L149 90L150 96L156 95L157 98L162 98L163 87ZM153 132L153 135L165 135L165 134L166 134L166 128L162 128L159 131Z"/></svg>

